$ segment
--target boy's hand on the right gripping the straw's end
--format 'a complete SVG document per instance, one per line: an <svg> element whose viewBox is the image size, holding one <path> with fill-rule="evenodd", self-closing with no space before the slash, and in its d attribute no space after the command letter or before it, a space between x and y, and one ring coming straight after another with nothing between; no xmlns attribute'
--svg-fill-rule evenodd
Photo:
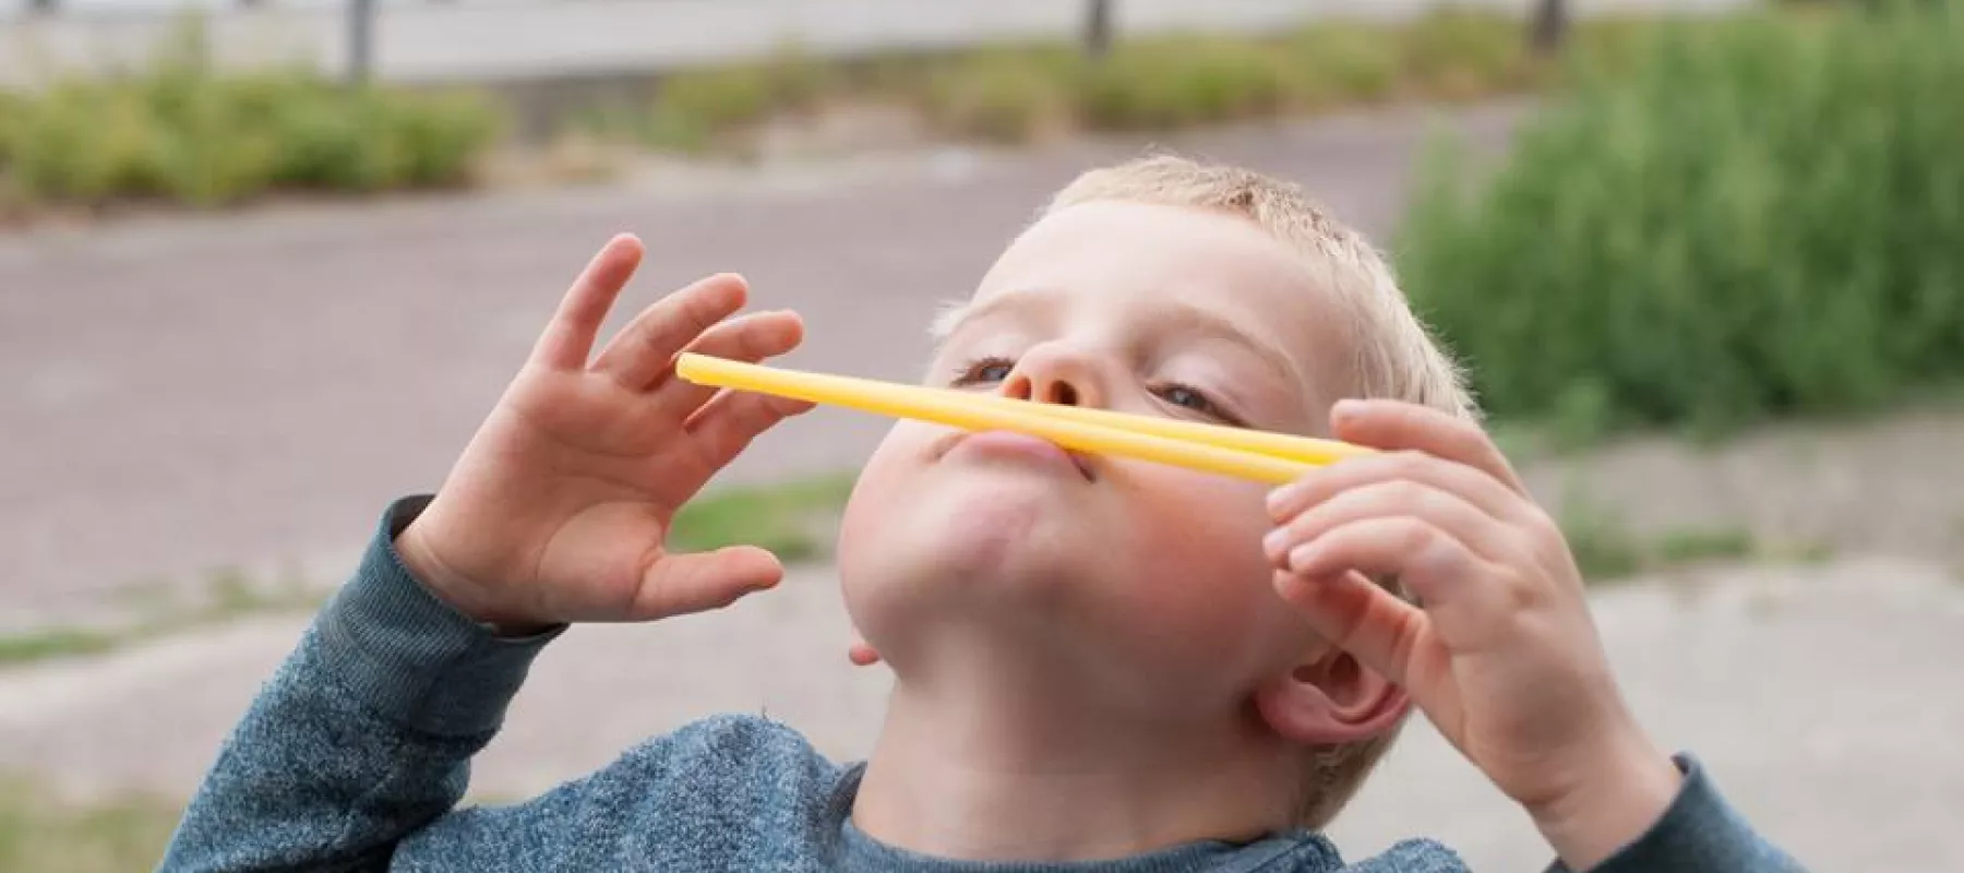
<svg viewBox="0 0 1964 873"><path fill-rule="evenodd" d="M1332 421L1383 452L1271 494L1281 596L1402 686L1571 869L1642 836L1679 773L1616 690L1561 529L1471 421L1396 401Z"/></svg>

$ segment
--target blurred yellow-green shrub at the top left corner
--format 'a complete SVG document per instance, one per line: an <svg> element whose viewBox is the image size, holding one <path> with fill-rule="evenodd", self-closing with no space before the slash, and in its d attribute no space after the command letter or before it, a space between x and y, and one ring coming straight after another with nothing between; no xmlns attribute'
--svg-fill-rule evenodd
<svg viewBox="0 0 1964 873"><path fill-rule="evenodd" d="M306 71L220 75L191 39L137 75L4 96L0 206L458 185L497 132L499 114L473 96L348 88Z"/></svg>

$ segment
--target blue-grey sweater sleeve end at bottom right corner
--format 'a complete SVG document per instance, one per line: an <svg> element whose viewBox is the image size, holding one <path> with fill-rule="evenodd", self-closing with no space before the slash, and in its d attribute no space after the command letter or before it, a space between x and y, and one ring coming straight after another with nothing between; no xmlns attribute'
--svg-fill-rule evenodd
<svg viewBox="0 0 1964 873"><path fill-rule="evenodd" d="M1691 755L1673 759L1685 775L1671 806L1650 830L1587 873L1801 873L1799 861L1770 844L1718 794ZM1561 861L1550 873L1573 873Z"/></svg>

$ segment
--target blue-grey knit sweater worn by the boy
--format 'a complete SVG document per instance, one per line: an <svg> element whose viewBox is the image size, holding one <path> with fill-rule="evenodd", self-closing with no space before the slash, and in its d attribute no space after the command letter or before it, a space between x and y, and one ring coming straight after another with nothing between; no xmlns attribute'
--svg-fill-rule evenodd
<svg viewBox="0 0 1964 873"><path fill-rule="evenodd" d="M218 755L165 871L1402 871L1465 869L1412 840L1347 865L1322 834L1200 842L1098 863L968 863L852 828L858 765L790 728L709 718L515 806L458 808L469 759L497 733L556 629L499 639L430 596L389 509L359 570L320 611ZM1795 871L1689 757L1665 816L1601 871ZM1561 869L1559 865L1552 869Z"/></svg>

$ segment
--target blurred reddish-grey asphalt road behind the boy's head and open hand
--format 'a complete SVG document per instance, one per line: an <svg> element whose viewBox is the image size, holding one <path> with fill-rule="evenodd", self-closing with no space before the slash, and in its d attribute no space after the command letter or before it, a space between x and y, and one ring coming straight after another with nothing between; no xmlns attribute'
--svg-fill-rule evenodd
<svg viewBox="0 0 1964 873"><path fill-rule="evenodd" d="M1306 183L1383 234L1434 126L1396 112L1171 144ZM0 623L216 568L332 584L381 507L434 490L589 254L650 250L623 311L711 271L803 313L788 366L911 379L939 301L1080 169L1137 153L943 151L764 175L273 208L0 238ZM817 411L725 480L854 466L886 423Z"/></svg>

